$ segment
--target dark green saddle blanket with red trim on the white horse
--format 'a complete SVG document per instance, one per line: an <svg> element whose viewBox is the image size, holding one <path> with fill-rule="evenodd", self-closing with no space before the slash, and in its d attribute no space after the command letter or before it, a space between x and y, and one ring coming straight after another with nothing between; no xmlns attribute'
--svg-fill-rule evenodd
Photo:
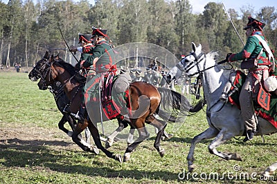
<svg viewBox="0 0 277 184"><path fill-rule="evenodd" d="M238 91L234 92L231 96L229 96L229 103L231 103L232 105L236 105L239 109L240 109L239 96L245 79L246 79L246 75L240 70L237 70L235 74L235 81L233 84L238 88ZM234 87L232 86L231 90L233 90L233 88ZM266 119L272 125L274 125L274 127L277 128L277 95L274 93L271 93L269 94L269 96L265 94L263 94L262 96L266 98L265 101L267 101L267 98L269 98L270 96L269 110L265 110L265 108L262 108L261 105L256 100L254 101L256 114L258 114L258 116L262 117L263 119ZM258 96L258 98L262 98L262 96ZM265 105L264 107L267 107L267 105Z"/></svg>

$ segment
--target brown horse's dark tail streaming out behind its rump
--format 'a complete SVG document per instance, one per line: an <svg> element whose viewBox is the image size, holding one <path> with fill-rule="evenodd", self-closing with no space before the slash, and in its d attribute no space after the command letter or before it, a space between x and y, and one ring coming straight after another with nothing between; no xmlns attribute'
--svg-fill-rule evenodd
<svg viewBox="0 0 277 184"><path fill-rule="evenodd" d="M157 88L161 94L161 103L157 109L157 114L162 119L168 119L168 121L176 122L177 116L181 118L186 116L190 110L194 108L190 107L190 103L185 96L167 88ZM179 113L176 113L179 111Z"/></svg>

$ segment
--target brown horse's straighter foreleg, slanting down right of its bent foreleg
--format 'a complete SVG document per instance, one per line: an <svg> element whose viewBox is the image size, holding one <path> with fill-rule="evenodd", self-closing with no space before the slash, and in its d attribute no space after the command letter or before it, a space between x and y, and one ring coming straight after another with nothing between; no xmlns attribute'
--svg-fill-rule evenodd
<svg viewBox="0 0 277 184"><path fill-rule="evenodd" d="M89 127L89 131L91 132L91 136L93 137L93 141L96 144L96 146L98 147L98 149L100 149L102 152L104 152L109 158L122 163L122 157L120 154L114 154L112 152L109 152L108 150L105 149L105 147L102 146L102 143L100 141L100 134L99 134L97 127L95 125L93 125L93 123L91 123L91 122L89 122L88 127Z"/></svg>

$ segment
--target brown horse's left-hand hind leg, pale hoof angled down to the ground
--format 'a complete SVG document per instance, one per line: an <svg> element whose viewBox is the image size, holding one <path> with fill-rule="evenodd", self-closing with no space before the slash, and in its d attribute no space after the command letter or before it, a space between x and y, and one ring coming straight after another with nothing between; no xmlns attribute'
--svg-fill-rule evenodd
<svg viewBox="0 0 277 184"><path fill-rule="evenodd" d="M134 143L132 143L131 145L128 145L124 157L123 157L123 162L127 162L129 161L130 157L131 157L131 153L132 151L145 139L147 139L150 134L149 132L146 130L146 127L140 127L137 128L138 132L139 132L139 138L136 139L136 141L134 141Z"/></svg>

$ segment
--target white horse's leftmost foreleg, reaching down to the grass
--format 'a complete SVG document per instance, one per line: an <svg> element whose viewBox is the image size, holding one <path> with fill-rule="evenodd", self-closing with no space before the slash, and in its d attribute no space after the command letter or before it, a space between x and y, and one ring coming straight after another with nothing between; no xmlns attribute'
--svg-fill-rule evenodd
<svg viewBox="0 0 277 184"><path fill-rule="evenodd" d="M194 152L195 152L195 146L197 143L199 143L202 140L205 139L211 139L215 137L218 134L218 130L216 130L213 127L209 127L207 130L202 132L201 134L198 134L193 138L193 140L190 143L190 151L188 152L188 156L186 157L188 161L188 172L193 172L195 169L195 165L193 164L194 159Z"/></svg>

